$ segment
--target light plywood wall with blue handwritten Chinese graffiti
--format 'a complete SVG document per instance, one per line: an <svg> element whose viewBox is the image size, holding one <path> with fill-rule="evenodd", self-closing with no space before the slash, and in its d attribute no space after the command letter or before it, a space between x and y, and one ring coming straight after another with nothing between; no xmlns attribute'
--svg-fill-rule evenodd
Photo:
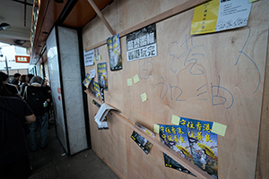
<svg viewBox="0 0 269 179"><path fill-rule="evenodd" d="M120 33L172 7L168 5L170 1L165 2L118 0L103 13L113 30ZM174 0L171 4L181 3L184 1ZM258 1L252 4L247 27L192 38L189 32L193 9L160 21L156 24L155 57L127 62L126 37L121 38L121 71L109 70L108 49L101 46L100 62L108 63L106 103L152 131L153 124L171 124L172 115L225 124L225 137L218 136L219 178L255 178L256 163L257 178L268 175L265 164L259 160L263 157L257 160L257 153L265 155L268 146L267 138L261 138L258 148L263 98L268 96L265 85L268 8L268 1ZM100 19L95 18L83 29L83 47L87 49L110 36ZM182 55L188 49L192 49L190 55ZM94 68L96 64L85 70ZM135 74L140 81L127 86L126 80ZM170 86L181 90L171 92ZM144 92L148 100L142 102L140 95ZM201 92L203 95L198 95ZM226 102L222 103L221 97ZM146 156L130 138L133 129L117 115L108 115L108 131L98 131L93 118L98 108L91 104L90 96L88 103L92 149L121 178L195 178L165 167L161 150L154 146ZM268 134L265 122L268 117L264 113L266 125L262 130Z"/></svg>

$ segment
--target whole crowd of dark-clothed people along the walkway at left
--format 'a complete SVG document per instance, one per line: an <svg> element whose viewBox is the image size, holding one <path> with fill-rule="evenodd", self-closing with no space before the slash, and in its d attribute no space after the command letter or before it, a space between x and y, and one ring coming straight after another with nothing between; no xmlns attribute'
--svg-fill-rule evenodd
<svg viewBox="0 0 269 179"><path fill-rule="evenodd" d="M15 73L13 80L0 72L0 179L28 178L29 150L48 146L51 91L46 81L32 74Z"/></svg>

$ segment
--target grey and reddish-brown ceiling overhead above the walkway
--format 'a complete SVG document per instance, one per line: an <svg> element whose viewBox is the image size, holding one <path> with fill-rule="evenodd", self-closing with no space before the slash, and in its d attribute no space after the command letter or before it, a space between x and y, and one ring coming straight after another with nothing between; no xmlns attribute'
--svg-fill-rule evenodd
<svg viewBox="0 0 269 179"><path fill-rule="evenodd" d="M56 3L62 1L62 3ZM114 0L94 0L100 11ZM30 30L34 0L0 0L0 23L11 25L0 31L0 42L30 49L30 64L36 64L44 49L50 30L54 25L81 29L97 13L88 0L36 0L39 4L39 18L30 48ZM39 3L38 3L39 2Z"/></svg>

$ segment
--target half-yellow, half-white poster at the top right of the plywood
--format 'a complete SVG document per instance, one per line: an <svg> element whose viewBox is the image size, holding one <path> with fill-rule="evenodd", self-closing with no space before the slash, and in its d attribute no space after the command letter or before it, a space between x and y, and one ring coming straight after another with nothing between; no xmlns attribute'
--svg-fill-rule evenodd
<svg viewBox="0 0 269 179"><path fill-rule="evenodd" d="M191 35L230 30L247 25L247 0L212 0L195 7Z"/></svg>

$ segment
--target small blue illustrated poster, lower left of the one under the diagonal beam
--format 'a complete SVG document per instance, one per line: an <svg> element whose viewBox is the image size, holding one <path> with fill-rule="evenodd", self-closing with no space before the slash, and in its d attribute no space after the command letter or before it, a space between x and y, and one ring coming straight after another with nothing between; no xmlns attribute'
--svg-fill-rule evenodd
<svg viewBox="0 0 269 179"><path fill-rule="evenodd" d="M107 63L97 64L98 83L100 88L108 90Z"/></svg>

